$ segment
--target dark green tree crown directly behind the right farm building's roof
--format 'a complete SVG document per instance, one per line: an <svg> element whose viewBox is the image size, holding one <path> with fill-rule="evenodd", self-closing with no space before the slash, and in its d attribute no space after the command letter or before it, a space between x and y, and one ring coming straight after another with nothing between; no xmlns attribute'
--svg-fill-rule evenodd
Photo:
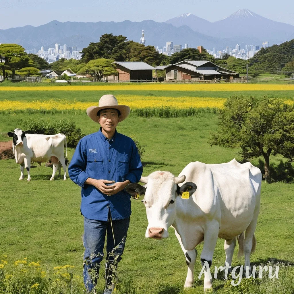
<svg viewBox="0 0 294 294"><path fill-rule="evenodd" d="M202 52L200 53L199 50L195 48L183 49L181 52L176 52L170 56L169 63L175 64L185 59L214 61L214 57L210 55L204 48L201 51Z"/></svg>

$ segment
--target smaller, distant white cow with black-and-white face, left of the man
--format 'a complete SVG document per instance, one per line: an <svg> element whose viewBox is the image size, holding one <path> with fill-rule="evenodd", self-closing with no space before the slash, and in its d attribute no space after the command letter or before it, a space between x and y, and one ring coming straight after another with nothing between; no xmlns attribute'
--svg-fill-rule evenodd
<svg viewBox="0 0 294 294"><path fill-rule="evenodd" d="M7 133L13 137L12 152L16 163L20 164L21 175L19 180L24 179L24 168L28 171L28 181L31 181L30 169L31 160L41 162L53 161L53 173L50 181L54 180L54 175L58 170L59 162L64 169L64 180L66 180L66 162L64 158L64 144L66 150L66 136L63 134L56 135L37 135L31 131L22 131L16 128L13 132ZM57 159L57 160L55 160Z"/></svg>

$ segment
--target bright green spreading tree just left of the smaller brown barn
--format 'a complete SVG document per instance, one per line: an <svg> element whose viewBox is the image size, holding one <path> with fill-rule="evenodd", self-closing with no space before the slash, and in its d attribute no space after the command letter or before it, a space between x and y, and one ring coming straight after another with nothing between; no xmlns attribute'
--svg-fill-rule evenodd
<svg viewBox="0 0 294 294"><path fill-rule="evenodd" d="M113 63L113 59L93 59L84 65L77 74L91 74L95 77L96 81L101 81L104 77L107 81L108 76L112 76L118 73Z"/></svg>

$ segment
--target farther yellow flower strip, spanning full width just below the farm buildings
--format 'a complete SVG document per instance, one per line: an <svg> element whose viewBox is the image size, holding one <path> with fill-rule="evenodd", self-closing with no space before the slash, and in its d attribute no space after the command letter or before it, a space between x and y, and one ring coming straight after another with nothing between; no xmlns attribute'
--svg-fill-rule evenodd
<svg viewBox="0 0 294 294"><path fill-rule="evenodd" d="M294 84L123 84L113 83L101 86L27 86L27 87L0 87L0 91L105 91L105 90L128 90L128 91L294 91Z"/></svg>

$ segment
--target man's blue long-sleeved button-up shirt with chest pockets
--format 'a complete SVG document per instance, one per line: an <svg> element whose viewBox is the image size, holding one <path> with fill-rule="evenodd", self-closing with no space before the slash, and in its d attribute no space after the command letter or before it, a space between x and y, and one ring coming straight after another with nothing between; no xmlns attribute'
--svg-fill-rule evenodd
<svg viewBox="0 0 294 294"><path fill-rule="evenodd" d="M115 131L108 140L101 128L81 138L69 165L69 177L82 187L81 213L93 220L119 220L131 215L131 196L126 191L107 196L92 185L84 184L87 178L136 183L143 172L140 156L134 141Z"/></svg>

